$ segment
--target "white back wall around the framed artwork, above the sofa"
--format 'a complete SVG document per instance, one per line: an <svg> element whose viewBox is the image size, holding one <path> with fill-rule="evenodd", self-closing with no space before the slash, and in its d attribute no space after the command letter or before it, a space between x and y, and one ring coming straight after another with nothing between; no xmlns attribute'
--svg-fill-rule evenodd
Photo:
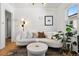
<svg viewBox="0 0 79 59"><path fill-rule="evenodd" d="M44 16L51 15L53 16L53 26L44 25ZM15 10L15 19L21 21L21 18L25 18L30 21L30 26L26 28L29 31L56 31L56 9L54 8L16 8ZM18 25L19 26L19 25ZM17 31L16 27L16 31Z"/></svg>

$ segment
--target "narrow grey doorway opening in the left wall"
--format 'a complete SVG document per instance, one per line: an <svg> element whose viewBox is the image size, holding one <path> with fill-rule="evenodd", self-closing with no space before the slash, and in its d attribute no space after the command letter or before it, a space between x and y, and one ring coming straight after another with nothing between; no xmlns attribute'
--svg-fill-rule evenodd
<svg viewBox="0 0 79 59"><path fill-rule="evenodd" d="M5 41L11 42L11 12L5 10Z"/></svg>

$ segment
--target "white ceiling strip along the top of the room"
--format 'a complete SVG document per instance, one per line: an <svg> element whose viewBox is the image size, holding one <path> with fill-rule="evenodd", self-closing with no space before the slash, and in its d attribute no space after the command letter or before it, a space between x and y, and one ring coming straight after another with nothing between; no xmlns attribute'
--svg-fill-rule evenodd
<svg viewBox="0 0 79 59"><path fill-rule="evenodd" d="M61 3L10 3L15 8L27 8L27 7L47 7L47 8L57 8Z"/></svg>

